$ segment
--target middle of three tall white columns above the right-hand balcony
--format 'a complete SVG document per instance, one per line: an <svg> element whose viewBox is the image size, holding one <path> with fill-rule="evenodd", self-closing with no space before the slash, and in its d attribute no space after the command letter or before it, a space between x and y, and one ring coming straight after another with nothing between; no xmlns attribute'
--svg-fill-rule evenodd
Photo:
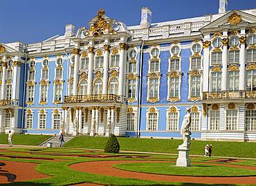
<svg viewBox="0 0 256 186"><path fill-rule="evenodd" d="M222 39L222 77L221 77L221 91L227 90L227 76L228 76L228 39Z"/></svg>

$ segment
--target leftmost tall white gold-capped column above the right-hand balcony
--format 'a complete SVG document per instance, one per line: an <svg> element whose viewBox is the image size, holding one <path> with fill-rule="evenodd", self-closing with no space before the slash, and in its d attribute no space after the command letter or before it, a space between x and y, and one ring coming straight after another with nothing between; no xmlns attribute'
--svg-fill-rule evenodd
<svg viewBox="0 0 256 186"><path fill-rule="evenodd" d="M210 41L203 42L203 92L209 92L209 49Z"/></svg>

